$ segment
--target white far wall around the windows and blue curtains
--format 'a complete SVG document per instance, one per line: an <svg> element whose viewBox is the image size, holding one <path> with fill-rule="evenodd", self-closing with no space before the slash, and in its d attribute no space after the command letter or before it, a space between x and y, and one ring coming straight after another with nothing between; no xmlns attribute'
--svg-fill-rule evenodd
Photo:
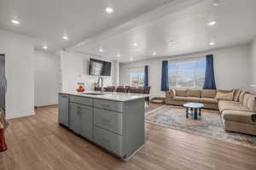
<svg viewBox="0 0 256 170"><path fill-rule="evenodd" d="M240 45L231 48L220 48L197 54L185 54L160 59L148 59L128 64L120 64L119 83L121 85L129 85L129 68L149 65L148 79L149 86L151 86L151 94L162 96L164 95L164 93L160 91L162 60L188 59L202 57L206 54L214 54L215 81L217 88L248 89L250 82L250 70L248 67L250 56L249 49L249 45Z"/></svg>

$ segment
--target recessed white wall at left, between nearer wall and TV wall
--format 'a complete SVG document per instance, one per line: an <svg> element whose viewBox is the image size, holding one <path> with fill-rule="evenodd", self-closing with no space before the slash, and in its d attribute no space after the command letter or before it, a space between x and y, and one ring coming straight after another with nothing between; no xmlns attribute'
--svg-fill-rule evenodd
<svg viewBox="0 0 256 170"><path fill-rule="evenodd" d="M61 87L61 56L35 50L35 106L55 105Z"/></svg>

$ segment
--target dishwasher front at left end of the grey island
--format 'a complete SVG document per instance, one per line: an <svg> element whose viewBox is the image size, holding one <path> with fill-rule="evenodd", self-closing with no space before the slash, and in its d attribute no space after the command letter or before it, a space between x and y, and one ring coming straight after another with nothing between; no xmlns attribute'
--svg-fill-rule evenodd
<svg viewBox="0 0 256 170"><path fill-rule="evenodd" d="M59 94L59 123L68 127L68 98L67 94Z"/></svg>

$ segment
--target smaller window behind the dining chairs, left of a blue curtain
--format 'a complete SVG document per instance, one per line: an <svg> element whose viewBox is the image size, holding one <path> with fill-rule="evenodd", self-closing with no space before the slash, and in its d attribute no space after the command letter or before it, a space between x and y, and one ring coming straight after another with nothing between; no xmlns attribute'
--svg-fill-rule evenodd
<svg viewBox="0 0 256 170"><path fill-rule="evenodd" d="M130 86L143 87L144 86L144 71L142 69L133 69L130 71Z"/></svg>

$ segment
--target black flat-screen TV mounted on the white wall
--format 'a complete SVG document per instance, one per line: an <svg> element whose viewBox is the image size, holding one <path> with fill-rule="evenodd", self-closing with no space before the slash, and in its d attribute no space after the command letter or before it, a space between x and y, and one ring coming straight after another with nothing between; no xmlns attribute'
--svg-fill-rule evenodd
<svg viewBox="0 0 256 170"><path fill-rule="evenodd" d="M89 75L93 76L110 76L111 62L98 59L90 59Z"/></svg>

